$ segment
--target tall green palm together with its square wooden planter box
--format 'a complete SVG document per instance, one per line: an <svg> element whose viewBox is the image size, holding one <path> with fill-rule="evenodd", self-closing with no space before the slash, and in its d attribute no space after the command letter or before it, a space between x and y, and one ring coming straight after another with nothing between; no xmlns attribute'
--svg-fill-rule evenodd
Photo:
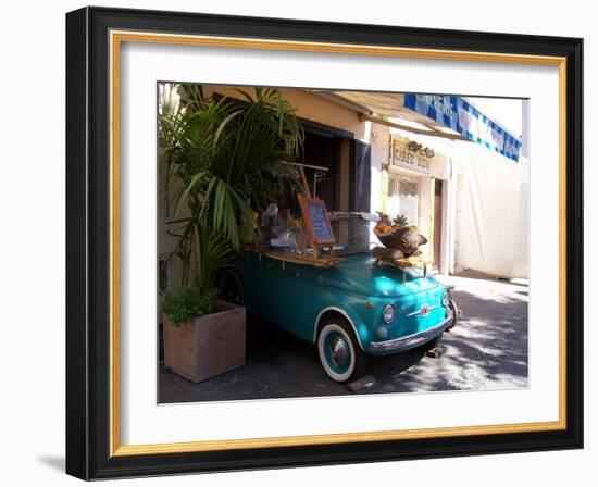
<svg viewBox="0 0 598 487"><path fill-rule="evenodd" d="M298 153L303 133L275 89L239 90L242 101L207 98L197 85L171 91L161 108L160 158L174 248L163 261L178 261L180 283L162 296L164 365L200 382L245 363L245 309L216 299L217 277L254 222L252 208L297 184L281 161Z"/></svg>

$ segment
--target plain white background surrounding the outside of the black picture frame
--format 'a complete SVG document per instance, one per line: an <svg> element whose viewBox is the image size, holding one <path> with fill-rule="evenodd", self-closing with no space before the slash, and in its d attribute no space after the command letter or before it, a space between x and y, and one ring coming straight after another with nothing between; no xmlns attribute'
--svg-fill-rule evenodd
<svg viewBox="0 0 598 487"><path fill-rule="evenodd" d="M337 465L295 470L195 475L127 482L102 486L310 486L338 484L504 487L507 485L591 485L598 455L596 380L598 346L589 326L598 320L598 223L591 213L598 177L591 161L591 134L598 132L596 85L596 15L591 2L570 0L538 3L502 0L481 8L477 0L418 4L383 0L347 2L302 0L95 0L110 7L171 9L212 13L297 17L336 22L381 23L436 28L478 29L585 37L586 97L586 449L510 455L438 459L409 462ZM84 1L5 2L0 77L3 115L0 117L3 158L0 164L0 212L4 238L2 265L3 350L0 353L3 396L1 473L5 485L72 485L80 482L62 473L64 451L64 13ZM26 100L23 96L25 93ZM33 95L36 95L32 99ZM32 117L41 122L32 125ZM16 211L17 209L18 211ZM590 282L593 280L593 282ZM29 310L42 310L35 323ZM580 324L581 325L581 324ZM32 339L35 336L35 339ZM539 337L541 339L541 337ZM26 347L24 346L26 344ZM41 375L40 375L41 372Z"/></svg>

